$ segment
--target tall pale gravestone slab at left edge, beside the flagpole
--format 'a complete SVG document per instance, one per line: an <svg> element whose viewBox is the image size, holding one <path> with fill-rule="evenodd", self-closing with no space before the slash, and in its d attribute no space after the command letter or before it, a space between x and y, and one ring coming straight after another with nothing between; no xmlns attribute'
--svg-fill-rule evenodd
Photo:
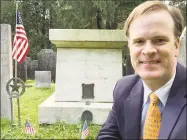
<svg viewBox="0 0 187 140"><path fill-rule="evenodd" d="M11 119L10 99L6 84L13 77L11 26L1 24L1 117Z"/></svg>

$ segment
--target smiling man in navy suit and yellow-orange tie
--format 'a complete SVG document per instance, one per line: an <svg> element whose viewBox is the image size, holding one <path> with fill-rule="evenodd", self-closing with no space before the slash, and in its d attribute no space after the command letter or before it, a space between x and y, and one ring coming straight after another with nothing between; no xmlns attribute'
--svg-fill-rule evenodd
<svg viewBox="0 0 187 140"><path fill-rule="evenodd" d="M134 75L120 79L97 139L186 139L186 68L177 62L180 11L146 1L126 20Z"/></svg>

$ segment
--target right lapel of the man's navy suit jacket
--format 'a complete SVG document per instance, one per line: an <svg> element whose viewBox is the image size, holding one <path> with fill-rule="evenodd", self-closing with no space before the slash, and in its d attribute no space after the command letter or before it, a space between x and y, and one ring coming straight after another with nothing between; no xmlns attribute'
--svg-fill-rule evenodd
<svg viewBox="0 0 187 140"><path fill-rule="evenodd" d="M171 87L166 106L162 114L159 139L168 139L176 121L186 105L186 75L185 70L177 67L174 83Z"/></svg>

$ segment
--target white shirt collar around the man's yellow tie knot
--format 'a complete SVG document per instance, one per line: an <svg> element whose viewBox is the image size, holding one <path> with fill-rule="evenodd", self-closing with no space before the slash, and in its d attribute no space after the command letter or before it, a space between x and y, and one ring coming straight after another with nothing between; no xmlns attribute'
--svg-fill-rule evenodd
<svg viewBox="0 0 187 140"><path fill-rule="evenodd" d="M171 86L173 84L174 78L175 78L176 72L173 74L172 78L162 87L160 87L159 89L157 89L155 92L155 94L157 95L157 97L159 98L159 100L161 101L161 103L165 106L168 96L169 96L169 92L171 89ZM143 81L143 80L142 80ZM143 81L143 87L144 87L144 104L148 102L148 97L149 94L152 93L153 91L151 91L147 85L145 84L145 82Z"/></svg>

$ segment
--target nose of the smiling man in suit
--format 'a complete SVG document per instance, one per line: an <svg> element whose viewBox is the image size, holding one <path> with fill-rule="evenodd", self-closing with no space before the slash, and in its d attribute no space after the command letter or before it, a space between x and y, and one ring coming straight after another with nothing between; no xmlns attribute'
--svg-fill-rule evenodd
<svg viewBox="0 0 187 140"><path fill-rule="evenodd" d="M142 53L145 55L151 55L156 52L157 52L157 50L154 47L154 45L151 42L146 42L146 44L143 47Z"/></svg>

